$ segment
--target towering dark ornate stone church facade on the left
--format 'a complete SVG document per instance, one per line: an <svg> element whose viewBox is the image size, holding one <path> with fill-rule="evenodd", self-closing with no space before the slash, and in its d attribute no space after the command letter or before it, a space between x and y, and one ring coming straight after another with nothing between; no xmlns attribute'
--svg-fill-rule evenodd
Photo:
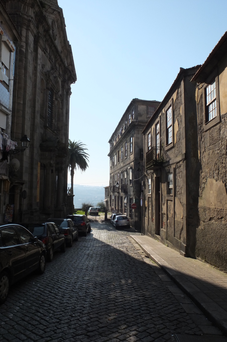
<svg viewBox="0 0 227 342"><path fill-rule="evenodd" d="M71 45L57 0L4 0L20 34L16 44L11 136L31 143L18 153L20 169L10 188L14 222L67 214L67 145L71 84L76 81Z"/></svg>

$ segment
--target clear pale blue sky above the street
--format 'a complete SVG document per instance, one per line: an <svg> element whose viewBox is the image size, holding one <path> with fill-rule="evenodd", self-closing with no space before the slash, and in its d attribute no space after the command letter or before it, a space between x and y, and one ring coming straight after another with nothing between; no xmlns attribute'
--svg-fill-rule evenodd
<svg viewBox="0 0 227 342"><path fill-rule="evenodd" d="M70 139L81 140L90 154L88 170L76 172L74 183L105 186L108 140L126 107L134 97L162 101L180 67L206 60L227 30L227 1L58 3L77 73Z"/></svg>

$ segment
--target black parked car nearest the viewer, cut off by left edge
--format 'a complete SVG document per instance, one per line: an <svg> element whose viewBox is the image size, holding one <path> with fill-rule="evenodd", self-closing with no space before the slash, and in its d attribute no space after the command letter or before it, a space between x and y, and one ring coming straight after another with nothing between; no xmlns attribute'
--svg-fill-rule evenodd
<svg viewBox="0 0 227 342"><path fill-rule="evenodd" d="M0 304L4 303L9 287L27 274L46 267L43 242L18 224L0 226Z"/></svg>

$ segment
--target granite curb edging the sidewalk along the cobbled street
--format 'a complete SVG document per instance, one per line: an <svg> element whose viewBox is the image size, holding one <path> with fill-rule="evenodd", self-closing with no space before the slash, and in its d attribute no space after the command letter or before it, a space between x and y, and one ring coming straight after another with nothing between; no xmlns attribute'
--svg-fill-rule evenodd
<svg viewBox="0 0 227 342"><path fill-rule="evenodd" d="M197 286L188 280L183 274L165 261L160 255L152 250L141 240L140 235L130 235L141 249L154 261L163 271L185 292L188 297L200 308L200 310L225 334L227 335L227 312L223 308L203 293ZM152 243L160 244L152 239ZM158 245L157 245L158 246ZM161 248L164 245L161 244ZM165 247L165 246L164 246ZM168 247L166 247L168 248ZM182 257L184 258L184 257Z"/></svg>

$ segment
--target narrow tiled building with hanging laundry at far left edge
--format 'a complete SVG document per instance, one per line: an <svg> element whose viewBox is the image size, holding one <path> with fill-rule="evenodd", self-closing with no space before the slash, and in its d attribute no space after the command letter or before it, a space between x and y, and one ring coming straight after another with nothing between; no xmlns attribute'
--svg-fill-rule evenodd
<svg viewBox="0 0 227 342"><path fill-rule="evenodd" d="M9 141L11 138L14 64L19 39L18 31L0 1L0 224L4 222L10 185L10 158L3 154L2 138L5 134Z"/></svg>

